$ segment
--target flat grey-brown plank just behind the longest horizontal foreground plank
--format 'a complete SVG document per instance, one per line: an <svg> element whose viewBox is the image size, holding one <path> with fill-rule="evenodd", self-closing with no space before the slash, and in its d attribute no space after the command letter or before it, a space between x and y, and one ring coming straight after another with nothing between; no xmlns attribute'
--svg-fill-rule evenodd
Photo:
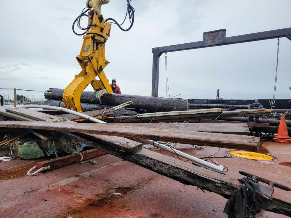
<svg viewBox="0 0 291 218"><path fill-rule="evenodd" d="M209 120L208 120L209 121ZM123 123L107 123L106 125L124 126ZM231 123L127 123L126 126L145 127L145 128L159 128L159 129L173 129L183 131L197 131L209 133L226 133L237 135L250 135L247 124Z"/></svg>

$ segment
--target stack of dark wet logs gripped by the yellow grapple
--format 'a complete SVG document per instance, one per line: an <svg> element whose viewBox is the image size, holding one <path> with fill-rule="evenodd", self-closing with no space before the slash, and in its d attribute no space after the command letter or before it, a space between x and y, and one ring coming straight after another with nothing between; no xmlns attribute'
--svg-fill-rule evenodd
<svg viewBox="0 0 291 218"><path fill-rule="evenodd" d="M50 88L44 93L45 105L58 106L63 99L64 89ZM104 107L113 108L122 103L132 101L130 108L123 108L116 111L116 116L136 115L138 113L182 111L189 110L187 99L171 99L160 97L148 97L125 94L106 93L100 97L95 96L96 92L84 91L81 94L81 106L84 111L101 110Z"/></svg>

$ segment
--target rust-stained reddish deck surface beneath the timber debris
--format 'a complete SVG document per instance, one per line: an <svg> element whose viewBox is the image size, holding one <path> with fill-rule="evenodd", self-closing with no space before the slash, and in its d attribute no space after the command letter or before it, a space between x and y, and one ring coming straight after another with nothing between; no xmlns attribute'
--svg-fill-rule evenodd
<svg viewBox="0 0 291 218"><path fill-rule="evenodd" d="M226 166L226 175L233 178L244 177L238 173L242 170L290 187L290 146L262 141L257 152L271 155L274 160L238 157L212 160ZM145 147L172 156L152 146ZM198 158L215 154L219 149L179 144L175 148ZM228 151L221 148L214 157L226 156ZM7 157L8 153L9 149L2 146L0 157ZM42 160L46 159L1 158L1 217L227 217L223 213L227 199L222 196L183 185L109 154L94 158L96 165L74 164L26 176L27 171ZM276 187L274 192L286 198L291 194ZM287 216L261 211L256 217Z"/></svg>

